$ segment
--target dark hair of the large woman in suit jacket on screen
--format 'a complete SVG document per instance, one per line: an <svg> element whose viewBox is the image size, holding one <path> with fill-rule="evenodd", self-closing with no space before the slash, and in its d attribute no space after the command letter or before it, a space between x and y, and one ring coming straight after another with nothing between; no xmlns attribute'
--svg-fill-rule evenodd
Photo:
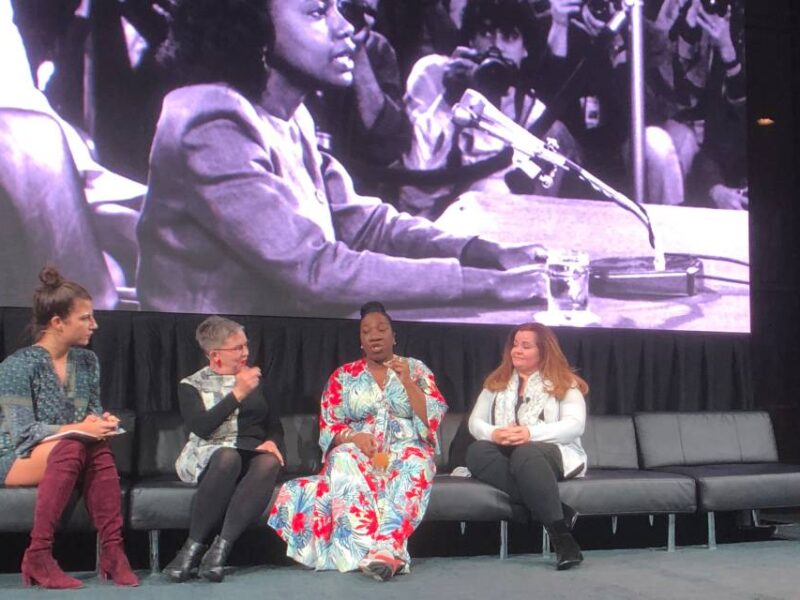
<svg viewBox="0 0 800 600"><path fill-rule="evenodd" d="M272 0L178 0L158 60L175 87L227 83L257 98L275 44Z"/></svg>

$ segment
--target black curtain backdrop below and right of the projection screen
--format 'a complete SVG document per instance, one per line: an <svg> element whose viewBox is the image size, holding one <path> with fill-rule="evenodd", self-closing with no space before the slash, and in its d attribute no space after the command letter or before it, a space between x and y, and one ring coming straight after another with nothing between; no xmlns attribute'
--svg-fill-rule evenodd
<svg viewBox="0 0 800 600"><path fill-rule="evenodd" d="M784 460L800 462L800 19L796 0L747 2L752 335L558 331L590 386L592 414L763 408ZM771 127L756 120L769 116ZM390 303L391 299L384 299ZM109 409L176 408L178 380L203 364L196 315L108 312L92 342ZM0 358L28 343L25 309L0 308ZM317 410L330 372L359 355L355 321L239 319L285 414ZM508 329L398 323L398 354L424 360L452 410L466 411Z"/></svg>

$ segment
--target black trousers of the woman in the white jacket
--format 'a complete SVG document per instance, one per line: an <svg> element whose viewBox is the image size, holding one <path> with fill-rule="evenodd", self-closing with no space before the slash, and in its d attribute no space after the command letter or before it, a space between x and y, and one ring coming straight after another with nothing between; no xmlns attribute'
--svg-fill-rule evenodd
<svg viewBox="0 0 800 600"><path fill-rule="evenodd" d="M476 441L467 449L467 468L473 477L506 492L523 504L531 517L544 524L564 518L558 482L564 478L561 451L555 444L528 442L499 446Z"/></svg>

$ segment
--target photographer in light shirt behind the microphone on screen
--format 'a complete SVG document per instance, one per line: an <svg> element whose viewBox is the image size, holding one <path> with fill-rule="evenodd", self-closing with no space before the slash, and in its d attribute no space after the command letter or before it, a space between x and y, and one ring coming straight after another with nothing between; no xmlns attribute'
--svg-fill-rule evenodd
<svg viewBox="0 0 800 600"><path fill-rule="evenodd" d="M457 169L497 155L503 143L481 131L461 129L452 122L452 108L467 89L483 94L506 116L531 129L545 109L534 90L536 63L534 17L523 0L468 0L461 20L463 46L451 56L430 55L414 65L406 84L406 110L413 126L410 169ZM560 122L544 133L559 152L573 160L572 135ZM578 160L579 161L579 160ZM508 163L506 163L507 165ZM406 187L403 210L436 216L458 194L482 190L558 195L562 175L549 186L532 182L517 169L504 169L477 182L459 181L431 188Z"/></svg>

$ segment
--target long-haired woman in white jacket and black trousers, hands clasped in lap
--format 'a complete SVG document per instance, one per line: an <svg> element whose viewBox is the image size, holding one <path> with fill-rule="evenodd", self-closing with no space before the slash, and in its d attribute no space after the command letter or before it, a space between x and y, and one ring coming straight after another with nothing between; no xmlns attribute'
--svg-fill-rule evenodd
<svg viewBox="0 0 800 600"><path fill-rule="evenodd" d="M588 391L553 332L524 323L511 332L503 360L486 378L469 418L476 441L467 451L467 467L544 524L559 570L583 560L570 534L577 515L561 503L558 481L586 473L580 436Z"/></svg>

